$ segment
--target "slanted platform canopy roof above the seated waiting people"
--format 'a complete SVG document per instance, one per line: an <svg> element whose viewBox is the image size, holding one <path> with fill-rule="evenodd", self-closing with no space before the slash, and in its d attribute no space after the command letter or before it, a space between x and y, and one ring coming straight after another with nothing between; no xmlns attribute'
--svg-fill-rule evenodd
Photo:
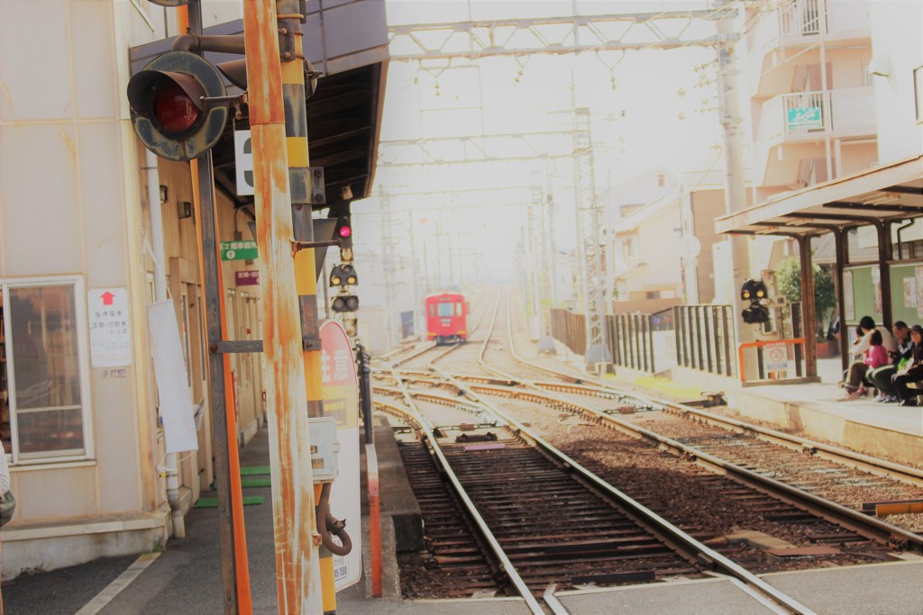
<svg viewBox="0 0 923 615"><path fill-rule="evenodd" d="M923 217L923 156L818 183L728 214L715 231L818 235L883 220Z"/></svg>

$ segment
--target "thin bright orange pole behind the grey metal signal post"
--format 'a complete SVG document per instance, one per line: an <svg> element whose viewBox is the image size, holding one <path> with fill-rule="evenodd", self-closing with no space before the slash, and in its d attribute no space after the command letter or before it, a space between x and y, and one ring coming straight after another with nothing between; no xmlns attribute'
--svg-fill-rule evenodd
<svg viewBox="0 0 923 615"><path fill-rule="evenodd" d="M183 32L189 28L189 7L188 6L178 6L176 9L176 26L177 30ZM202 210L201 203L198 198L198 160L191 160L189 162L189 169L192 173L192 201L193 207L195 208L196 215L196 224L199 229L202 228ZM215 207L212 216L214 217L216 224L218 220L217 204L213 203L212 207ZM204 248L202 246L202 237L200 233L196 233L198 240L198 276L204 284L205 280L205 269L204 269ZM224 282L222 279L222 266L221 266L221 255L218 254L218 245L219 242L215 242L216 254L215 257L218 259L218 309L221 318L221 331L222 339L227 339L228 336L228 326L227 326L227 310L224 303ZM224 353L222 356L224 364L224 408L225 408L225 424L227 426L227 432L225 437L228 441L228 469L230 474L231 482L231 510L233 519L233 532L234 532L234 563L235 563L235 576L237 581L237 609L238 612L243 615L251 615L253 612L252 598L250 596L250 567L247 562L247 551L246 551L246 527L244 526L244 490L240 481L240 456L237 451L237 416L234 412L236 408L236 403L234 401L234 381L232 379L232 370L231 370L231 355Z"/></svg>

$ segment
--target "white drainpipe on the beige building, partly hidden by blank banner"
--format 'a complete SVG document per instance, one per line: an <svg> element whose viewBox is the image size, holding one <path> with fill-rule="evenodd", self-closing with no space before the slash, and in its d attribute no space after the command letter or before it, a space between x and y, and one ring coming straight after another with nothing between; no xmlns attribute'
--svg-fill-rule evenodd
<svg viewBox="0 0 923 615"><path fill-rule="evenodd" d="M157 171L157 156L145 149L144 168L148 173L148 203L150 204L150 243L154 251L154 301L167 299L166 261L163 257L163 218L161 200L161 176ZM179 502L179 474L176 470L176 454L167 453L163 466L158 467L167 481L167 503L173 518L174 538L186 538L186 519Z"/></svg>

